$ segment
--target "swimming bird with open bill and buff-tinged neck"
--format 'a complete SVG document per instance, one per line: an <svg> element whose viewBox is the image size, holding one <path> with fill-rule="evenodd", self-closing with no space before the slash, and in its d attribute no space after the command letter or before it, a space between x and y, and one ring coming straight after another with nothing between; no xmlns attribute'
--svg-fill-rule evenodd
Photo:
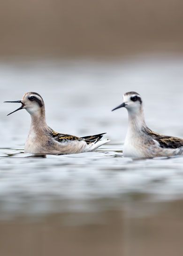
<svg viewBox="0 0 183 256"><path fill-rule="evenodd" d="M31 154L76 154L91 152L106 144L107 139L100 140L105 133L93 136L76 137L53 131L45 118L45 103L43 98L34 92L25 93L21 101L5 101L21 103L20 109L26 109L31 115L31 128L25 143L24 153Z"/></svg>

